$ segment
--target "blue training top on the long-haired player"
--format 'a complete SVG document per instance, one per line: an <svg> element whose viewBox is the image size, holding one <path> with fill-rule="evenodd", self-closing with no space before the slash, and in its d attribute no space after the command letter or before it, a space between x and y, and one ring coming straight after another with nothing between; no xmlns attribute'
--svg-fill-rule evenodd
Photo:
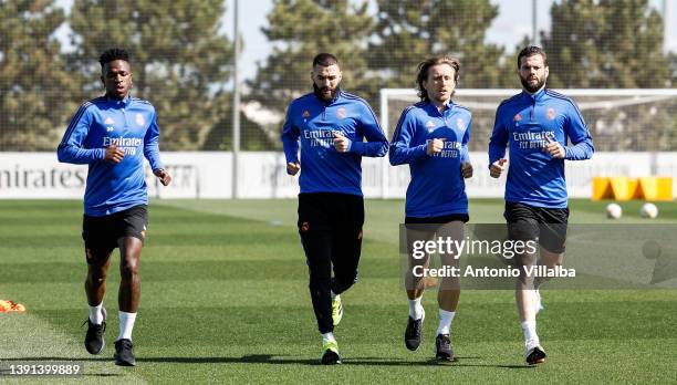
<svg viewBox="0 0 677 385"><path fill-rule="evenodd" d="M393 166L408 164L406 216L416 218L468 214L461 162L469 162L470 111L449 103L444 112L429 102L408 106L393 134L389 159ZM445 139L445 148L426 154L428 142Z"/></svg>

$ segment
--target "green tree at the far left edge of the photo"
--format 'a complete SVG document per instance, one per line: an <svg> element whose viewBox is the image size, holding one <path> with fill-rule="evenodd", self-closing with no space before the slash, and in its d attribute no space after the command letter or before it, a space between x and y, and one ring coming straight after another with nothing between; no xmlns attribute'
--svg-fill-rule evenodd
<svg viewBox="0 0 677 385"><path fill-rule="evenodd" d="M0 1L0 149L54 150L74 92L53 38L52 0Z"/></svg>

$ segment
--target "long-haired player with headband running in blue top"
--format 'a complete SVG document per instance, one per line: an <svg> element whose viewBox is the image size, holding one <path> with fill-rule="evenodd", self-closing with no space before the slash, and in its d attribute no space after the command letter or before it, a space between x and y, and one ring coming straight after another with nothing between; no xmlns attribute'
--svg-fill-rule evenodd
<svg viewBox="0 0 677 385"><path fill-rule="evenodd" d="M421 341L425 290L421 277L413 274L417 264L428 266L428 258L415 260L414 241L434 236L461 239L468 221L468 197L464 178L472 176L468 157L472 116L451 101L459 79L460 63L454 58L430 58L418 65L416 76L420 102L408 106L399 117L390 144L390 164L408 164L412 180L407 187L405 226L409 248L406 289L409 318L405 345L416 351ZM442 266L458 267L455 256L440 256ZM456 256L459 257L459 256ZM437 294L439 326L435 339L436 357L454 361L450 330L460 289L458 279L442 278Z"/></svg>

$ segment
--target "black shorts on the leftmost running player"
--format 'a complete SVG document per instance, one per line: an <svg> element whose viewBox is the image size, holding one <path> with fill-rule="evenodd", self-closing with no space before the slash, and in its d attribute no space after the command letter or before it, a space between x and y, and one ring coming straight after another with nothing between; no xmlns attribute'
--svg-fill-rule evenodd
<svg viewBox="0 0 677 385"><path fill-rule="evenodd" d="M146 205L138 205L110 216L83 216L82 239L85 241L87 263L96 263L91 256L107 256L117 248L117 241L125 237L135 237L144 241L148 226Z"/></svg>

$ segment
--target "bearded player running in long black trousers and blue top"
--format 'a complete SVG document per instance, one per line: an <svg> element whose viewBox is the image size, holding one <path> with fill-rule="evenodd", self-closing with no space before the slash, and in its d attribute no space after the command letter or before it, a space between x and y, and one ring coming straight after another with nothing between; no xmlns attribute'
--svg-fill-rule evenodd
<svg viewBox="0 0 677 385"><path fill-rule="evenodd" d="M388 142L369 105L341 90L342 72L334 55L316 55L311 79L313 92L289 105L281 138L287 173L301 170L298 225L322 334L321 362L340 364L333 334L343 316L340 294L357 281L362 249L361 162L363 156L384 156Z"/></svg>

